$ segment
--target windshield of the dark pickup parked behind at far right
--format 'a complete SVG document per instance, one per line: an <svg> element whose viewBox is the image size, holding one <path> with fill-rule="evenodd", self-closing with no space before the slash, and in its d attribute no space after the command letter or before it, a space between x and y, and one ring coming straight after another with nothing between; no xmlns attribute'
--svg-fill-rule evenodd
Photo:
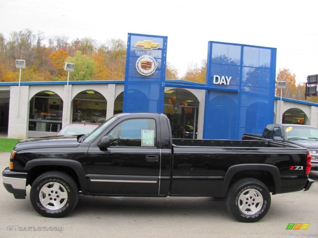
<svg viewBox="0 0 318 238"><path fill-rule="evenodd" d="M285 126L284 129L288 140L318 140L318 129L314 127Z"/></svg>

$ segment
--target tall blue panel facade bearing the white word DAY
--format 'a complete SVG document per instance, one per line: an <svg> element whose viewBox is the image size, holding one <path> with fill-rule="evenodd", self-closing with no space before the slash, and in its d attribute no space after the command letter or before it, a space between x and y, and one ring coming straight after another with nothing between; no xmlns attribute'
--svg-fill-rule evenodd
<svg viewBox="0 0 318 238"><path fill-rule="evenodd" d="M276 49L209 42L204 139L241 139L273 123Z"/></svg>

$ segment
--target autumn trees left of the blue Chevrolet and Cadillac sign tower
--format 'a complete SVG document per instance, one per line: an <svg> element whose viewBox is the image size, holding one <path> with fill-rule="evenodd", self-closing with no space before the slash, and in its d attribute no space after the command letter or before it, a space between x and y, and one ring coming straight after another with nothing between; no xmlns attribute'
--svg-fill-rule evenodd
<svg viewBox="0 0 318 238"><path fill-rule="evenodd" d="M15 60L24 59L22 81L64 81L66 61L76 63L71 80L123 80L126 43L111 39L98 44L89 37L72 42L66 36L45 38L31 30L12 32L8 39L0 34L0 81L15 82Z"/></svg>

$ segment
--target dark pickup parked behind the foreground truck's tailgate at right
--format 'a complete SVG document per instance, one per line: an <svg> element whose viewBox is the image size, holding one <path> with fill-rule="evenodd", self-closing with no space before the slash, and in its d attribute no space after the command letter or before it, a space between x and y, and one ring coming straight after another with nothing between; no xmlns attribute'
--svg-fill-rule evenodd
<svg viewBox="0 0 318 238"><path fill-rule="evenodd" d="M318 169L318 129L298 124L269 124L262 135L243 134L242 140L274 140L298 145L309 150L311 169Z"/></svg>

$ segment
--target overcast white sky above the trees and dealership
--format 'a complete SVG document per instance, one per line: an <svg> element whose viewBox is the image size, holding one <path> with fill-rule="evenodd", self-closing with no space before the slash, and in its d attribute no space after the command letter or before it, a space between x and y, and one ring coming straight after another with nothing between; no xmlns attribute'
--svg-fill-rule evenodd
<svg viewBox="0 0 318 238"><path fill-rule="evenodd" d="M167 60L183 76L207 57L208 41L277 48L276 73L297 82L318 74L318 1L2 0L0 32L31 29L69 42L90 37L127 42L127 33L168 36Z"/></svg>

